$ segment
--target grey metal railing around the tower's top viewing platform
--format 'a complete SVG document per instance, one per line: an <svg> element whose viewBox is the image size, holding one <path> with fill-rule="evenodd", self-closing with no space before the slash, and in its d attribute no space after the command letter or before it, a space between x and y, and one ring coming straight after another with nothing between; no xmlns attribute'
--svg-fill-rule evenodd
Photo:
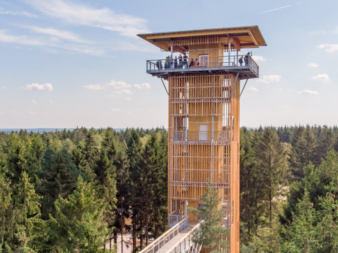
<svg viewBox="0 0 338 253"><path fill-rule="evenodd" d="M243 63L239 62L242 58ZM192 60L194 65L192 65ZM187 59L187 61L179 61L179 59L159 59L159 60L147 60L147 72L148 71L159 71L169 72L179 69L181 71L205 69L210 68L224 68L234 67L237 68L249 68L255 75L258 76L258 65L252 59L251 56L246 55L234 55L234 56L222 56L222 57L208 57L199 59Z"/></svg>

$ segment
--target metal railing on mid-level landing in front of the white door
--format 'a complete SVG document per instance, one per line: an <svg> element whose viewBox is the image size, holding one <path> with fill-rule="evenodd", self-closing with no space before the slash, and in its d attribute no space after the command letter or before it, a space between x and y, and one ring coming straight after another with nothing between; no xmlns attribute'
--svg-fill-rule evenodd
<svg viewBox="0 0 338 253"><path fill-rule="evenodd" d="M214 131L214 141L227 141L228 140L228 131ZM199 131L191 132L188 131L174 131L174 140L175 141L211 141L212 132L209 131Z"/></svg>

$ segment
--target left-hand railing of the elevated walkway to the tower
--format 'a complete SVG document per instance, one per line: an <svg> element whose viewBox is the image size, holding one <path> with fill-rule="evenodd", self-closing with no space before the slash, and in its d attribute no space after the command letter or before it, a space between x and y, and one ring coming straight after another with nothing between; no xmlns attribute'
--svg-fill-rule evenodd
<svg viewBox="0 0 338 253"><path fill-rule="evenodd" d="M185 216L174 227L162 234L159 238L141 250L139 253L155 253L167 245L176 235L188 227L188 216Z"/></svg>

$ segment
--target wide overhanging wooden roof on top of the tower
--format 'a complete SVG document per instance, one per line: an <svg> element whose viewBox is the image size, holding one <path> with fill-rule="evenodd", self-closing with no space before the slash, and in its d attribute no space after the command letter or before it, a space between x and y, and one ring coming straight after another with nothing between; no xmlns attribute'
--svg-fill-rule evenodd
<svg viewBox="0 0 338 253"><path fill-rule="evenodd" d="M190 45L222 43L225 50L258 48L266 46L266 42L258 26L223 27L202 30L176 32L158 32L137 34L156 47L165 51L184 52Z"/></svg>

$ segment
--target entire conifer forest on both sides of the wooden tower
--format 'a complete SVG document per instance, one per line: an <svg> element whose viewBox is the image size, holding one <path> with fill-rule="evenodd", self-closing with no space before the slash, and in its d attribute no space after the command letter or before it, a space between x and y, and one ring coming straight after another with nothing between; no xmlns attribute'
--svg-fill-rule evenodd
<svg viewBox="0 0 338 253"><path fill-rule="evenodd" d="M337 126L240 138L241 252L338 252ZM124 230L144 248L168 226L167 139L163 127L0 133L0 252L116 252Z"/></svg>

